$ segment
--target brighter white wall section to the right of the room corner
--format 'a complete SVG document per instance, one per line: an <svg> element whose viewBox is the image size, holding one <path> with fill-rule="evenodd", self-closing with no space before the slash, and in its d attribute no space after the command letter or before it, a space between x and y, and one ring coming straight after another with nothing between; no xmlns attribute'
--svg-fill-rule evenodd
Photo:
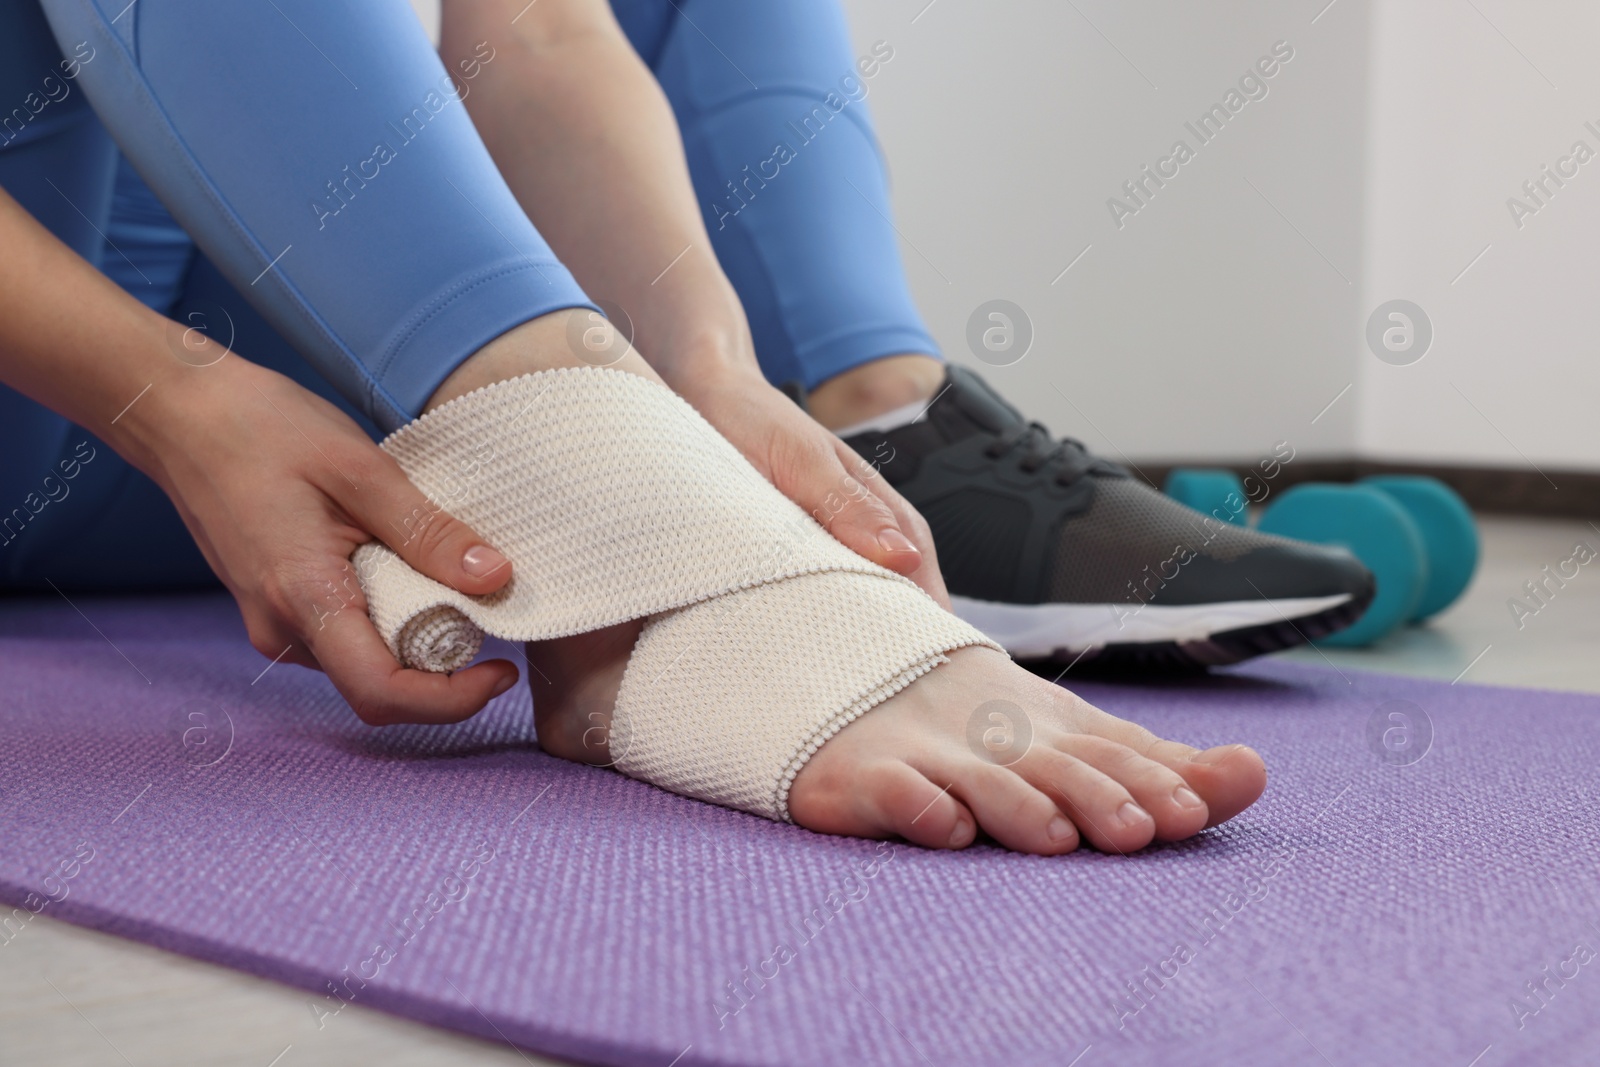
<svg viewBox="0 0 1600 1067"><path fill-rule="evenodd" d="M1600 5L1474 2L1374 8L1365 307L1411 299L1437 338L1411 366L1358 360L1357 442L1597 469L1600 133L1584 123L1600 130ZM1522 182L1579 139L1595 158L1518 229L1507 198L1533 203Z"/></svg>

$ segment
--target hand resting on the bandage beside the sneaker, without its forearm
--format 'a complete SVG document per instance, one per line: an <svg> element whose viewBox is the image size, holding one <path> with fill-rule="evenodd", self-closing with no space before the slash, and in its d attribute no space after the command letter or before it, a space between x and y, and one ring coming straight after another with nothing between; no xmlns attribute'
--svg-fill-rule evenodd
<svg viewBox="0 0 1600 1067"><path fill-rule="evenodd" d="M669 384L778 490L858 555L906 574L946 609L926 520L850 445L766 384L755 358L696 366ZM886 462L888 456L877 458Z"/></svg>

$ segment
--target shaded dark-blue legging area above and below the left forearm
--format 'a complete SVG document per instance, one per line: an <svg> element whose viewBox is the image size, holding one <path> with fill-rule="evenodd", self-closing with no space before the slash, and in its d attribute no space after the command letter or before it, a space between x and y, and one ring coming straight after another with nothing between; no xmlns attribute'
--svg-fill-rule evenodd
<svg viewBox="0 0 1600 1067"><path fill-rule="evenodd" d="M283 371L360 418L200 258L120 157L75 83L43 13L18 5L0 34L6 96L29 122L0 131L0 187L147 307ZM70 50L75 59L91 46ZM98 56L96 56L98 58ZM93 59L90 59L93 62ZM14 85L11 83L14 82ZM46 102L48 99L48 102ZM216 323L211 322L216 318ZM171 501L104 442L0 387L0 587L50 592L214 587Z"/></svg>

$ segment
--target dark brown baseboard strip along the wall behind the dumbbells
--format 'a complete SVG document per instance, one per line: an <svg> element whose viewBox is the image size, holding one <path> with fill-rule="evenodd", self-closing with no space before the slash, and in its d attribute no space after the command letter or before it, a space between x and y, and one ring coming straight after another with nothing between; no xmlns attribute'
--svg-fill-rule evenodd
<svg viewBox="0 0 1600 1067"><path fill-rule="evenodd" d="M1254 467L1234 462L1141 462L1139 474L1157 488L1165 485L1173 467L1226 467L1259 474ZM1546 470L1507 467L1437 467L1429 464L1376 462L1371 459L1294 459L1280 467L1272 480L1275 490L1301 482L1355 482L1374 474L1424 474L1438 478L1466 499L1475 512L1509 515L1541 515L1549 518L1600 518L1600 472Z"/></svg>

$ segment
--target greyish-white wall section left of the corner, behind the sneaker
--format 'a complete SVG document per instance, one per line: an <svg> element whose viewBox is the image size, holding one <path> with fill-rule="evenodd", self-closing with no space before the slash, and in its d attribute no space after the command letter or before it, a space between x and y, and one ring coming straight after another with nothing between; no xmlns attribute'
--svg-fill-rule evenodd
<svg viewBox="0 0 1600 1067"><path fill-rule="evenodd" d="M1317 416L1355 374L1365 3L1315 24L1302 3L925 3L846 6L862 46L896 48L870 104L899 227L950 278L907 250L946 350L976 365L966 317L1002 296L1037 341L987 373L1058 432L1136 459L1346 453L1350 395ZM1198 147L1184 122L1278 40L1269 94ZM1107 198L1178 138L1195 158L1118 229Z"/></svg>

